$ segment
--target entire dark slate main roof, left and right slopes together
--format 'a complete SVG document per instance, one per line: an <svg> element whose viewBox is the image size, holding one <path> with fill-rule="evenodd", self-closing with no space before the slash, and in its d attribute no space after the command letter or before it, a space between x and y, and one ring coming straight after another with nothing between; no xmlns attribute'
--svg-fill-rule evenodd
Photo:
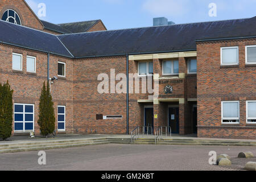
<svg viewBox="0 0 256 182"><path fill-rule="evenodd" d="M76 58L196 51L197 40L256 38L256 16L57 36L3 20L0 27L0 43Z"/></svg>

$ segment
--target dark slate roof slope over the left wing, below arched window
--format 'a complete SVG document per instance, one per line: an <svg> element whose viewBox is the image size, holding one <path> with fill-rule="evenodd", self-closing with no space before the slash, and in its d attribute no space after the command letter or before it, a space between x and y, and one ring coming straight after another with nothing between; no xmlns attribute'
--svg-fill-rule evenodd
<svg viewBox="0 0 256 182"><path fill-rule="evenodd" d="M0 43L72 57L57 36L0 20Z"/></svg>

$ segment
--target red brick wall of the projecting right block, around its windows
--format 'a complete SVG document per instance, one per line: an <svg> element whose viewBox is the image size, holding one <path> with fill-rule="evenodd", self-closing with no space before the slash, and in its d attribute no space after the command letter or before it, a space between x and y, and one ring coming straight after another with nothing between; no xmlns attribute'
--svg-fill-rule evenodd
<svg viewBox="0 0 256 182"><path fill-rule="evenodd" d="M245 65L245 46L256 39L197 44L199 137L255 139L256 128L246 124L246 100L255 100L256 67ZM220 48L239 47L239 65L221 67ZM221 101L240 101L240 124L221 124Z"/></svg>

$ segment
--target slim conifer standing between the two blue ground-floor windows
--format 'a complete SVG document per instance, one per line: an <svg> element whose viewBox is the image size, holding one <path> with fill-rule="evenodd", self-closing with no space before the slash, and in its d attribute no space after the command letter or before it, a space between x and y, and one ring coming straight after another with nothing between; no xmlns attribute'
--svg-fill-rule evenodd
<svg viewBox="0 0 256 182"><path fill-rule="evenodd" d="M40 126L41 135L47 136L55 130L55 114L49 82L47 82L47 87L46 82L43 84L39 103L38 125Z"/></svg>

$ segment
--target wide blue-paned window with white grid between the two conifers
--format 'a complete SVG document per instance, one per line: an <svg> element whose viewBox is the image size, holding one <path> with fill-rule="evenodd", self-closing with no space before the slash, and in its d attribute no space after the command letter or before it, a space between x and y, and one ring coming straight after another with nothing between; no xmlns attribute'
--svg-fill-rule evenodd
<svg viewBox="0 0 256 182"><path fill-rule="evenodd" d="M14 104L14 131L34 131L34 105Z"/></svg>

